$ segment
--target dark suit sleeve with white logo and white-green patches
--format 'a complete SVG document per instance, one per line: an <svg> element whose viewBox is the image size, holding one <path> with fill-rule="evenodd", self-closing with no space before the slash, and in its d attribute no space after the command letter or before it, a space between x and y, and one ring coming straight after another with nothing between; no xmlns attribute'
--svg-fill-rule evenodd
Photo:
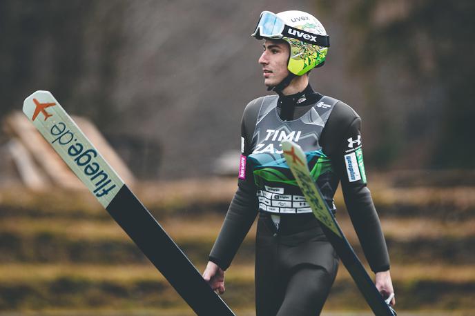
<svg viewBox="0 0 475 316"><path fill-rule="evenodd" d="M376 213L371 192L367 187L362 157L361 119L356 112L349 109L352 115L348 115L347 111L346 123L340 125L344 128L341 132L334 134L340 135L341 138L340 141L336 141L336 144L339 145L334 148L335 152L331 159L333 168L340 177L343 197L351 222L369 266L376 273L389 270L389 254L378 213Z"/></svg>

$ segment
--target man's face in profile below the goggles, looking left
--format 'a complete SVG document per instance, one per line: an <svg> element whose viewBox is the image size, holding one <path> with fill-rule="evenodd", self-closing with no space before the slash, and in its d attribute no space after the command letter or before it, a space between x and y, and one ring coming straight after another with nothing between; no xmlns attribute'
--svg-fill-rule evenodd
<svg viewBox="0 0 475 316"><path fill-rule="evenodd" d="M289 75L289 70L287 70L289 56L290 47L286 41L266 39L264 52L259 58L264 85L268 87L276 86Z"/></svg>

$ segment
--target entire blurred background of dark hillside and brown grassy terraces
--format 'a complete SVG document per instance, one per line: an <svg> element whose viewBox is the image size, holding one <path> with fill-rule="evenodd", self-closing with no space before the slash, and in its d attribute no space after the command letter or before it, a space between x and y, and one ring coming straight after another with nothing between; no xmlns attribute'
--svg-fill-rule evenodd
<svg viewBox="0 0 475 316"><path fill-rule="evenodd" d="M362 117L400 315L475 315L474 1L0 0L1 315L192 315L88 192L35 161L15 111L49 90L87 119L202 270L235 190L242 110L269 93L249 35L262 10L293 9L331 36L311 85ZM253 230L226 288L253 315ZM341 267L324 313L365 310Z"/></svg>

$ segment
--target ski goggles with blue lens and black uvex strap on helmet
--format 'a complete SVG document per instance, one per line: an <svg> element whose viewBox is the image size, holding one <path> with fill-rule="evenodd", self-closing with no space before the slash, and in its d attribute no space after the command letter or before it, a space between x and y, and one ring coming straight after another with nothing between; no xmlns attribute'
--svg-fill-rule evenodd
<svg viewBox="0 0 475 316"><path fill-rule="evenodd" d="M282 39L282 37L291 37L305 43L323 47L330 46L330 37L328 35L318 35L298 28L287 26L284 20L277 14L269 11L263 11L260 14L258 25L251 36L256 39Z"/></svg>

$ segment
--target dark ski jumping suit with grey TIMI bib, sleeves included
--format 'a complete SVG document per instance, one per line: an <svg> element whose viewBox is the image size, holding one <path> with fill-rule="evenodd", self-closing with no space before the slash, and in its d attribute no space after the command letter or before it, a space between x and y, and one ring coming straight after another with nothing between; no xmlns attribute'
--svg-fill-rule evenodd
<svg viewBox="0 0 475 316"><path fill-rule="evenodd" d="M380 221L366 185L361 119L347 104L314 92L251 101L242 117L238 188L209 255L229 267L256 215L255 305L258 316L318 315L338 270L338 256L289 172L278 168L280 141L297 142L330 208L338 183L371 270L389 270Z"/></svg>

